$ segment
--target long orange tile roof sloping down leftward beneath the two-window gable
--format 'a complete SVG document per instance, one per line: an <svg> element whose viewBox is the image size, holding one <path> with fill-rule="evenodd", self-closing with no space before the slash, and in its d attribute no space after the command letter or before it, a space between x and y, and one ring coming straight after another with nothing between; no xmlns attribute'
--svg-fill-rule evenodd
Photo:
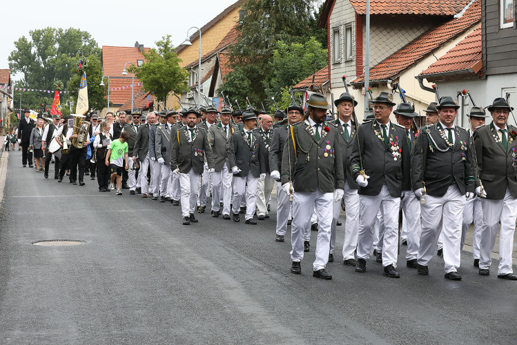
<svg viewBox="0 0 517 345"><path fill-rule="evenodd" d="M397 52L370 69L370 81L393 79L402 71L431 54L451 39L458 37L481 20L481 0L476 0L460 18L454 18L425 32ZM364 83L364 74L351 83Z"/></svg>

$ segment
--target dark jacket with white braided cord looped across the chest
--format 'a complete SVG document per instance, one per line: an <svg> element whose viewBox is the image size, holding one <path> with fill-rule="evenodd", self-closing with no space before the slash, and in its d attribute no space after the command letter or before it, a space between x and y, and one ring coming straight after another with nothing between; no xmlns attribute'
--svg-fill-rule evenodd
<svg viewBox="0 0 517 345"><path fill-rule="evenodd" d="M423 179L427 194L435 197L445 195L452 183L456 183L464 195L474 192L469 134L455 126L453 145L446 139L447 136L447 130L440 123L425 126L420 131L413 150L413 190L424 186Z"/></svg>

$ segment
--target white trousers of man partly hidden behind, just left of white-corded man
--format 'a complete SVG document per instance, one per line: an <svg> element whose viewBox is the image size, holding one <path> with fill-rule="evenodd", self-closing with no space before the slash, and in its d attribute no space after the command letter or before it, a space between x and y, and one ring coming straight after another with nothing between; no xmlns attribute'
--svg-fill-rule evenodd
<svg viewBox="0 0 517 345"><path fill-rule="evenodd" d="M422 226L420 224L420 200L416 198L413 190L404 191L404 199L400 201L402 207L402 224L407 228L407 252L406 259L416 259L418 255L418 247L420 246L420 233Z"/></svg>

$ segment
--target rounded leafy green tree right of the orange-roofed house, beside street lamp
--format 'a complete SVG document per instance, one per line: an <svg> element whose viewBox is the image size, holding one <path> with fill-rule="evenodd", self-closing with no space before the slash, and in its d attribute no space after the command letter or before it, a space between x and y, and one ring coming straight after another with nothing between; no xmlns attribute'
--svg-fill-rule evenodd
<svg viewBox="0 0 517 345"><path fill-rule="evenodd" d="M157 101L166 102L170 92L181 94L188 90L188 72L179 66L182 60L177 57L170 35L162 37L156 46L156 49L142 52L146 58L142 67L132 65L128 70L142 81L146 92L154 95Z"/></svg>

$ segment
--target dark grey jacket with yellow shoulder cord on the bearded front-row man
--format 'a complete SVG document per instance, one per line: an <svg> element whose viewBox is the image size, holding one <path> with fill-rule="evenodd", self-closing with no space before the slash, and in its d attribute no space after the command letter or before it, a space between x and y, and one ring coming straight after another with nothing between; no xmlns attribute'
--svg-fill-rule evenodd
<svg viewBox="0 0 517 345"><path fill-rule="evenodd" d="M297 193L315 192L318 188L322 193L333 193L336 188L344 188L338 131L325 122L322 126L319 141L309 120L294 124L292 136L289 131L286 143L289 149L283 152L281 178L282 184L293 181Z"/></svg>

